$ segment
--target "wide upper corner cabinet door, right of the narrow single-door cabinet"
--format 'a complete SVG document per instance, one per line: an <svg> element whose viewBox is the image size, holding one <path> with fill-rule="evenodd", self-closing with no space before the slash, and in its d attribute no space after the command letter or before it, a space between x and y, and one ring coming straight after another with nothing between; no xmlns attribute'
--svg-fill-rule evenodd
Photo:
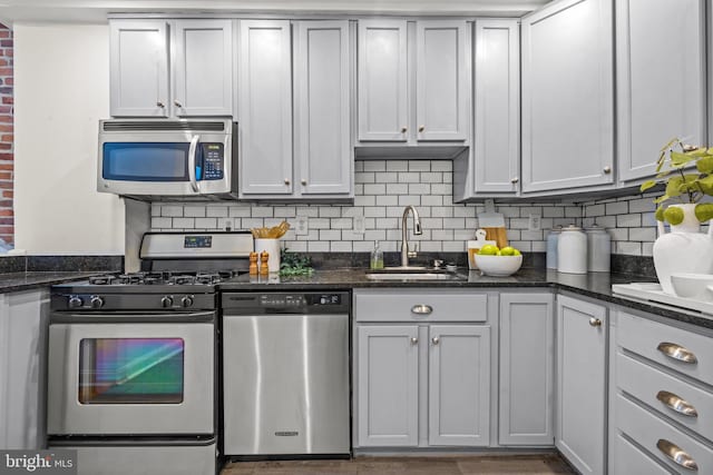
<svg viewBox="0 0 713 475"><path fill-rule="evenodd" d="M612 0L522 19L522 191L613 184Z"/></svg>

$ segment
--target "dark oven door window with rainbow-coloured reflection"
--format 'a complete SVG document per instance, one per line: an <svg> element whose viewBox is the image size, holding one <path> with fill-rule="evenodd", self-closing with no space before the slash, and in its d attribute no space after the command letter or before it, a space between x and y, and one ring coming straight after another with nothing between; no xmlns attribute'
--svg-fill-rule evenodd
<svg viewBox="0 0 713 475"><path fill-rule="evenodd" d="M182 338L85 338L79 343L79 403L179 404Z"/></svg>

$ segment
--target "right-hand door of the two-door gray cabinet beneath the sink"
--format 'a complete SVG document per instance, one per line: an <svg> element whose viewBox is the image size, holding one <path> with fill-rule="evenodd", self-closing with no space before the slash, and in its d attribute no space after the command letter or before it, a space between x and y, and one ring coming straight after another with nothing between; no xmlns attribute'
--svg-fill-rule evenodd
<svg viewBox="0 0 713 475"><path fill-rule="evenodd" d="M429 445L490 444L490 328L429 329Z"/></svg>

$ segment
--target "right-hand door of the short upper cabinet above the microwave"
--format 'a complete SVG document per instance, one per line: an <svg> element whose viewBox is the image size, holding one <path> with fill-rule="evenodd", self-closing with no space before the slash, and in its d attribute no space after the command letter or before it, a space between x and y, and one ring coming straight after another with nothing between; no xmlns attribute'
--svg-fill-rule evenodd
<svg viewBox="0 0 713 475"><path fill-rule="evenodd" d="M175 27L175 115L232 116L232 20L179 20Z"/></svg>

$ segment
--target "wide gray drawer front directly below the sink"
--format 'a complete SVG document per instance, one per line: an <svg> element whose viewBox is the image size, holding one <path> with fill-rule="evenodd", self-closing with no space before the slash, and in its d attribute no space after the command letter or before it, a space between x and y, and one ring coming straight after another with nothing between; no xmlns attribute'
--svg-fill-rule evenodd
<svg viewBox="0 0 713 475"><path fill-rule="evenodd" d="M486 321L487 294L423 289L354 291L356 321Z"/></svg>

